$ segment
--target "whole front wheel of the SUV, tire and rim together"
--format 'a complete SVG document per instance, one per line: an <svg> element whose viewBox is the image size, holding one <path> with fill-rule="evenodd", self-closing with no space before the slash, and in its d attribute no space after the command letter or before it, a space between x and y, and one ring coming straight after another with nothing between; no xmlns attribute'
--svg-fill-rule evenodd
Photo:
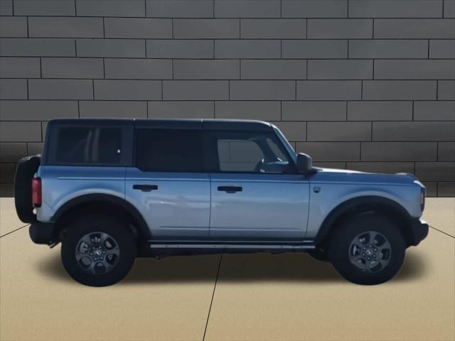
<svg viewBox="0 0 455 341"><path fill-rule="evenodd" d="M363 214L336 227L330 240L330 260L341 276L363 285L392 279L405 260L400 227L386 217Z"/></svg>

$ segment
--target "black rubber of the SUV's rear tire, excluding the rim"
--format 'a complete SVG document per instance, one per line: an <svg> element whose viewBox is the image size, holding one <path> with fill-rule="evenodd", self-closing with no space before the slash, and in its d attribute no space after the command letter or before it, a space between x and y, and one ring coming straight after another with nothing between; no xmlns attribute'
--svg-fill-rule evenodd
<svg viewBox="0 0 455 341"><path fill-rule="evenodd" d="M107 274L87 274L75 258L75 250L80 239L91 232L105 232L115 239L119 247L119 260ZM75 281L86 286L109 286L127 276L136 259L137 247L127 223L114 217L83 217L71 224L64 234L61 258L63 266Z"/></svg>

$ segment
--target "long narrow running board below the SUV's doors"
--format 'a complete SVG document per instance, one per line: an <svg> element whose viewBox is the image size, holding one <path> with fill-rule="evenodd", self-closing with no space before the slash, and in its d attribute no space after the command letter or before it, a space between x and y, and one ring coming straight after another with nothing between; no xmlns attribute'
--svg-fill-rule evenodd
<svg viewBox="0 0 455 341"><path fill-rule="evenodd" d="M263 249L263 250L299 250L315 249L309 244L173 244L149 242L150 249Z"/></svg>

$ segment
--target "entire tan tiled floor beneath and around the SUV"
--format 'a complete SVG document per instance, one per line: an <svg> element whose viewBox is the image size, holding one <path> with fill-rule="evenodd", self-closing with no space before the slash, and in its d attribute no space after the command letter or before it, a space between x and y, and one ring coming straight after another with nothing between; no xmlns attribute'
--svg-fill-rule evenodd
<svg viewBox="0 0 455 341"><path fill-rule="evenodd" d="M424 218L453 236L453 207L453 198L429 199ZM0 214L0 235L23 226L11 199L0 200ZM32 244L18 229L0 239L0 339L454 340L447 234L431 229L380 286L350 284L306 254L225 254L221 263L138 259L121 283L88 288L65 274L60 247Z"/></svg>

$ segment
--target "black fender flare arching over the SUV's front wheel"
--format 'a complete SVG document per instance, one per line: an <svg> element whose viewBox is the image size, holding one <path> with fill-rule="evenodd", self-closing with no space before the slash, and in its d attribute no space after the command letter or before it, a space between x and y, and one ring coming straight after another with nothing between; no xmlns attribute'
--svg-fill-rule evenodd
<svg viewBox="0 0 455 341"><path fill-rule="evenodd" d="M318 234L316 234L316 238L314 239L315 244L318 244L319 242L323 241L325 237L327 237L333 223L336 222L338 218L340 218L349 210L353 210L356 207L365 207L366 205L372 205L373 207L387 207L387 210L390 210L390 212L400 216L407 222L408 225L412 222L412 217L410 216L409 212L407 212L405 207L400 205L400 203L396 202L395 200L388 199L387 197L380 197L377 195L364 195L361 197L354 197L352 199L346 200L345 202L341 202L341 204L331 210L331 212L327 215L326 219L321 224ZM405 228L407 227L409 226L406 226Z"/></svg>

